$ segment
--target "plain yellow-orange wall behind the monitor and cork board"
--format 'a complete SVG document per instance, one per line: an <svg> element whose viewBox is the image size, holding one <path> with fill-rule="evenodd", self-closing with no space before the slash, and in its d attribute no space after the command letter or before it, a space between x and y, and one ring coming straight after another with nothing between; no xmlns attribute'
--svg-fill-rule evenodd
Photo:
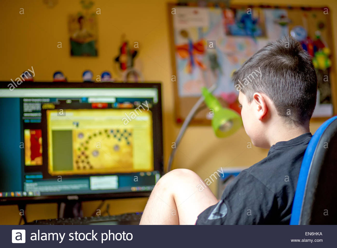
<svg viewBox="0 0 337 248"><path fill-rule="evenodd" d="M67 17L77 13L80 0L59 0L54 8L48 8L42 0L1 1L0 9L0 80L18 77L33 66L35 81L50 81L56 70L61 70L68 81L81 81L81 74L90 69L94 75L103 70L112 71L113 58L118 55L120 37L126 34L130 42L139 42L138 60L142 62L146 81L161 81L163 92L164 162L166 164L171 142L179 131L174 121L174 97L171 82L171 61L168 43L166 0L94 0L93 8L100 8L98 15L99 56L97 58L73 58L69 55ZM267 1L262 1L266 3ZM232 1L232 3L259 4L256 0ZM290 5L292 0L273 0L269 4ZM298 0L298 5L329 6L333 23L337 23L337 1ZM20 15L20 8L24 14ZM337 25L333 26L337 40ZM62 42L62 48L57 48ZM337 50L335 44L334 50ZM313 133L321 122L311 123ZM174 168L188 168L203 179L219 167L250 166L267 155L267 150L247 149L249 137L243 128L232 137L217 139L210 127L190 127L183 138L175 158ZM216 183L210 185L215 192ZM142 211L147 198L107 201L110 213L119 214ZM85 215L95 211L100 201L84 203ZM105 207L104 207L105 208ZM56 204L32 204L27 206L28 221L56 218ZM17 224L19 211L16 206L0 206L0 224Z"/></svg>

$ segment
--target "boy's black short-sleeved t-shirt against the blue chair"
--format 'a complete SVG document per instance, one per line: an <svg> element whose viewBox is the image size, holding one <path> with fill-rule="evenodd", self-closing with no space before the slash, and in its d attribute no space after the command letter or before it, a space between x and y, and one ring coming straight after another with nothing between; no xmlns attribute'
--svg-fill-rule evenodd
<svg viewBox="0 0 337 248"><path fill-rule="evenodd" d="M289 224L297 180L311 133L270 147L262 161L243 170L218 204L203 211L201 225Z"/></svg>

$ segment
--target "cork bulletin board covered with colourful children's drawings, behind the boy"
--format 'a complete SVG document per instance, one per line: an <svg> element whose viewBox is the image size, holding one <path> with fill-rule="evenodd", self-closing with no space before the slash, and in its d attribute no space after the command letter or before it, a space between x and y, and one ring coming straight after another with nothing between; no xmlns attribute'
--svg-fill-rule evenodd
<svg viewBox="0 0 337 248"><path fill-rule="evenodd" d="M168 4L176 121L184 121L200 98L201 87L213 84L217 85L214 95L223 107L240 112L232 73L263 46L291 32L299 39L304 37L302 46L315 60L318 92L313 118L336 115L336 64L329 11L327 7ZM205 108L191 123L208 125L211 118Z"/></svg>

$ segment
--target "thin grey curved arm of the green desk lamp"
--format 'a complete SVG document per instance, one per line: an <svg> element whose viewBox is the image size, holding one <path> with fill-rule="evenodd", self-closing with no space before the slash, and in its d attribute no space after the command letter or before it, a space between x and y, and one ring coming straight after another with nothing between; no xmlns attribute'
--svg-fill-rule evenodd
<svg viewBox="0 0 337 248"><path fill-rule="evenodd" d="M210 88L209 88L209 91L210 92L213 92L215 89L216 89L217 85L216 84L213 84ZM198 101L194 104L194 106L191 108L191 110L189 111L188 115L186 116L184 122L183 122L183 125L181 126L180 128L180 131L179 131L179 134L176 138L176 141L175 141L175 148L172 148L172 151L171 151L171 154L170 154L170 157L168 158L168 162L167 162L167 169L166 169L166 172L169 172L171 171L171 166L172 166L172 163L173 163L173 158L174 158L174 155L176 154L176 150L178 148L178 145L180 143L180 140L181 138L183 137L187 127L188 127L188 124L191 122L191 120L193 119L194 115L197 113L198 111L198 108L200 107L200 105L204 102L204 96L201 96Z"/></svg>

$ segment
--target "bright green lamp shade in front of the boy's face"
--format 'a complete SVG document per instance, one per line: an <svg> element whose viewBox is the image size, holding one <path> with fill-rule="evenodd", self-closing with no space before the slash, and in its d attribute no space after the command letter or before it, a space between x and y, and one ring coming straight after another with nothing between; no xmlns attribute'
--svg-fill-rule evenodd
<svg viewBox="0 0 337 248"><path fill-rule="evenodd" d="M242 126L241 116L232 109L223 108L216 97L206 87L202 88L207 107L213 110L212 128L219 138L234 134Z"/></svg>

